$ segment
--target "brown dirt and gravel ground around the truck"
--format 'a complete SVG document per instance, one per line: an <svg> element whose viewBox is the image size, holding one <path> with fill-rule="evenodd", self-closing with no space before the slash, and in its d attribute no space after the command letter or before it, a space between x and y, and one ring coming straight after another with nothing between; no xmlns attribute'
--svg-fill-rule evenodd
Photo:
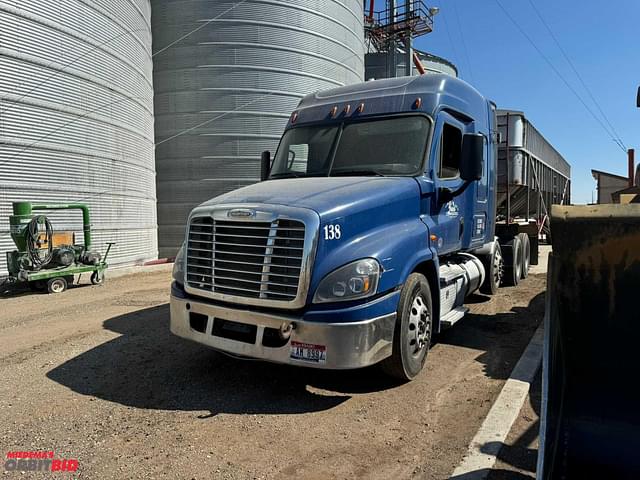
<svg viewBox="0 0 640 480"><path fill-rule="evenodd" d="M540 274L474 296L426 371L398 385L376 368L240 361L174 337L169 282L0 297L3 456L53 450L78 459L77 478L447 478L544 312Z"/></svg>

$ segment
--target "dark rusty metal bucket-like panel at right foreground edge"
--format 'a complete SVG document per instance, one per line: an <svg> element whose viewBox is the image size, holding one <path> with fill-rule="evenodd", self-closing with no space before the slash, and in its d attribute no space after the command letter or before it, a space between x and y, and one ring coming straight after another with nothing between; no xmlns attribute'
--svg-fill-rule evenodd
<svg viewBox="0 0 640 480"><path fill-rule="evenodd" d="M551 223L537 478L640 478L640 205Z"/></svg>

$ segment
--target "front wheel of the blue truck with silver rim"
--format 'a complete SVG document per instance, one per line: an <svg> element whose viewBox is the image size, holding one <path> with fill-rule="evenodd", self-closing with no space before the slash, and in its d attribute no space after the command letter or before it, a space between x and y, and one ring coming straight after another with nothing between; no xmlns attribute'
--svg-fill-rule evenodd
<svg viewBox="0 0 640 480"><path fill-rule="evenodd" d="M408 382L420 373L431 345L432 312L429 282L424 275L412 273L400 292L393 353L380 363L387 375Z"/></svg>

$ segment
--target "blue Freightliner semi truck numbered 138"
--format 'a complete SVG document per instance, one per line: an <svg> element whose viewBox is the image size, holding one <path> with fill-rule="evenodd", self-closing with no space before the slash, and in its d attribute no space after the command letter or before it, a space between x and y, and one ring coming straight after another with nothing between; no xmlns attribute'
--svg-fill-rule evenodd
<svg viewBox="0 0 640 480"><path fill-rule="evenodd" d="M535 226L507 219L496 234L500 137L495 105L446 75L305 97L263 181L191 212L171 331L240 357L414 378L465 297L526 275Z"/></svg>

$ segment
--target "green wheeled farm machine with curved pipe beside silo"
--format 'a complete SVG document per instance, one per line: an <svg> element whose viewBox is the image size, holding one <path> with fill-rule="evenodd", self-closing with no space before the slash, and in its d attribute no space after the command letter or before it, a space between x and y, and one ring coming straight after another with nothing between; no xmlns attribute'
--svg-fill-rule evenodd
<svg viewBox="0 0 640 480"><path fill-rule="evenodd" d="M73 232L54 232L51 221L34 211L80 210L84 242L75 243ZM91 249L89 208L81 203L33 205L14 202L9 217L11 238L17 250L7 252L9 280L27 282L33 290L61 293L73 283L74 275L91 273L91 283L104 282L107 256L113 243L108 243L104 258Z"/></svg>

